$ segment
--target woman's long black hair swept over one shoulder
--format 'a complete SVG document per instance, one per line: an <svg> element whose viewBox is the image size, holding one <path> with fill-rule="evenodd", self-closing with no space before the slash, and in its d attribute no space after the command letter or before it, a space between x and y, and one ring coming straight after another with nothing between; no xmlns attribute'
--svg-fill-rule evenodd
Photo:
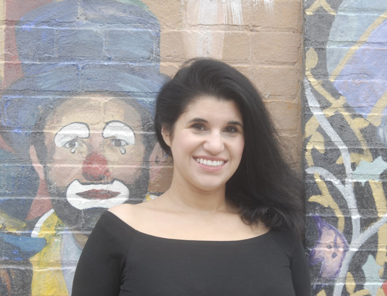
<svg viewBox="0 0 387 296"><path fill-rule="evenodd" d="M226 183L226 199L240 209L246 224L263 222L271 229L303 233L304 197L301 181L281 153L262 96L252 82L218 60L195 58L183 63L156 98L154 125L161 147L171 154L161 128L170 136L178 117L200 96L234 101L243 116L245 147L240 165Z"/></svg>

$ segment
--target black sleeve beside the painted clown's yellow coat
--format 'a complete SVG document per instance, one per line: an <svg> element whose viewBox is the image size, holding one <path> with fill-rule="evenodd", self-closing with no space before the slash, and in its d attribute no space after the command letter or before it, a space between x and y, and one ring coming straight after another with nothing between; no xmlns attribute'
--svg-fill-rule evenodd
<svg viewBox="0 0 387 296"><path fill-rule="evenodd" d="M75 270L72 296L118 295L121 271L133 235L110 212L98 220L80 255Z"/></svg>

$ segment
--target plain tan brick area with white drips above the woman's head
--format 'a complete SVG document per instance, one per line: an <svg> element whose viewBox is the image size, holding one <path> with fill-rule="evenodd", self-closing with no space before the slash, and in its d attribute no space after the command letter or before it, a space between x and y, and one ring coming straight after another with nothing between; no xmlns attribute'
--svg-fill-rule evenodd
<svg viewBox="0 0 387 296"><path fill-rule="evenodd" d="M293 166L300 170L301 0L275 0L272 7L263 0L241 1L239 23L220 0L143 2L161 24L161 72L173 75L183 60L194 56L220 58L235 66L264 94L289 142Z"/></svg>

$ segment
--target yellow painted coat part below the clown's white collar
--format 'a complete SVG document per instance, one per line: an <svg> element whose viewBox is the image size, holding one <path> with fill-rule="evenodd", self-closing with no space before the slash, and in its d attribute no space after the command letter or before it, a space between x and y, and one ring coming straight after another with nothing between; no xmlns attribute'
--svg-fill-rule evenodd
<svg viewBox="0 0 387 296"><path fill-rule="evenodd" d="M38 295L69 295L60 262L60 243L62 235L58 229L64 224L55 213L46 219L39 231L38 237L46 239L46 245L30 262L33 268L31 283L32 296Z"/></svg>

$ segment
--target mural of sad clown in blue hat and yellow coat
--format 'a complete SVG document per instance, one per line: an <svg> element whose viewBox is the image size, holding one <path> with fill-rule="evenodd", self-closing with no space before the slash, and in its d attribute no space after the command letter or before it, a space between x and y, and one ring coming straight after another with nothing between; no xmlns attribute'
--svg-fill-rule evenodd
<svg viewBox="0 0 387 296"><path fill-rule="evenodd" d="M171 175L151 125L166 79L157 18L138 0L48 2L9 30L19 74L0 101L1 295L71 294L100 214L159 195Z"/></svg>

